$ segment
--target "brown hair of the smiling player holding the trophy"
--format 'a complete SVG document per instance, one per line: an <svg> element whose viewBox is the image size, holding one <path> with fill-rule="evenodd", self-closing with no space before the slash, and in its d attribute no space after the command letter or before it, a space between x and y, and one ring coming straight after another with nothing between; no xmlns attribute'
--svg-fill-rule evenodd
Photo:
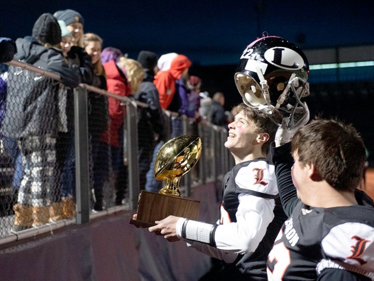
<svg viewBox="0 0 374 281"><path fill-rule="evenodd" d="M269 135L269 139L265 142L261 147L261 152L264 155L267 155L270 150L270 144L275 139L275 133L277 132L278 125L275 124L271 119L270 116L258 109L251 108L244 103L240 103L235 106L231 110L232 114L235 116L236 114L243 112L243 114L247 117L249 121L252 121L255 125L255 132L257 134L267 133ZM282 122L282 115L278 110L273 110L272 118L277 122Z"/></svg>

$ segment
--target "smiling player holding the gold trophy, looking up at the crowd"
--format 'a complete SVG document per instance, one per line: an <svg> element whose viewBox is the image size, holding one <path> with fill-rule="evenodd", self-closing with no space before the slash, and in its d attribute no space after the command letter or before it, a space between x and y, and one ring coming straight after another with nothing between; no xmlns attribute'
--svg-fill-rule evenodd
<svg viewBox="0 0 374 281"><path fill-rule="evenodd" d="M234 107L233 115L224 145L236 165L223 179L220 220L205 223L169 216L149 231L234 263L240 273L234 279L266 280L267 255L285 220L274 166L265 158L278 127L269 115L244 103Z"/></svg>

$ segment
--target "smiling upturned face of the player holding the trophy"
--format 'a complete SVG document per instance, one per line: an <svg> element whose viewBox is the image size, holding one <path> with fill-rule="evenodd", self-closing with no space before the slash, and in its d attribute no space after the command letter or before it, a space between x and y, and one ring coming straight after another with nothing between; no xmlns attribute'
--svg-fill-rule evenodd
<svg viewBox="0 0 374 281"><path fill-rule="evenodd" d="M234 121L228 125L228 128L225 147L240 158L253 153L254 146L258 144L259 134L255 132L254 123L248 120L242 111L235 115Z"/></svg>

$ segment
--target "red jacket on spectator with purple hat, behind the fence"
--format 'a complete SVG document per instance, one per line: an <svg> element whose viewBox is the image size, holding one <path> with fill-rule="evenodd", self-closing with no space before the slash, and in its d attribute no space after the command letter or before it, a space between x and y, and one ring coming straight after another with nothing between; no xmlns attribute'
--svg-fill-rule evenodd
<svg viewBox="0 0 374 281"><path fill-rule="evenodd" d="M130 85L127 82L125 74L120 73L115 61L110 60L104 63L104 69L107 78L108 92L117 94L119 96L129 96ZM121 76L121 74L123 76ZM101 140L110 145L118 147L118 130L123 124L126 108L121 106L121 100L113 97L108 97L108 103L109 129L104 131L104 133L101 135Z"/></svg>

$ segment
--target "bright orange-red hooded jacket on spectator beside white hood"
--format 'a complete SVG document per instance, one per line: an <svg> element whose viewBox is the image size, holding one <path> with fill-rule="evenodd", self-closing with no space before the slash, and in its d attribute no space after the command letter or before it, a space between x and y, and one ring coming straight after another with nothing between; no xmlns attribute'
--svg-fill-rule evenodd
<svg viewBox="0 0 374 281"><path fill-rule="evenodd" d="M153 83L159 91L160 105L163 109L168 109L176 92L176 81L181 78L183 71L191 66L187 56L177 55L169 70L159 71Z"/></svg>

